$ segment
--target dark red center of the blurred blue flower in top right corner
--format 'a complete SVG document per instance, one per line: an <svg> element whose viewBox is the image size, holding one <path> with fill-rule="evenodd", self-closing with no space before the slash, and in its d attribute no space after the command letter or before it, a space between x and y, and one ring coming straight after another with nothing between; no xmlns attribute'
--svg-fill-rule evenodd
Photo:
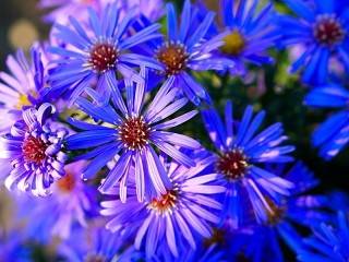
<svg viewBox="0 0 349 262"><path fill-rule="evenodd" d="M341 23L335 14L317 15L313 26L313 35L316 41L324 46L339 44L347 32L341 27Z"/></svg>

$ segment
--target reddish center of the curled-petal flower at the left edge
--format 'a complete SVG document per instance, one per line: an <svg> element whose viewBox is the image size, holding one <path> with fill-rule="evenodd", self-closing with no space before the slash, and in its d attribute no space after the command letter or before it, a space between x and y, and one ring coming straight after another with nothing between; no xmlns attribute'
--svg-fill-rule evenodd
<svg viewBox="0 0 349 262"><path fill-rule="evenodd" d="M41 163L46 158L46 150L50 144L40 139L28 136L22 144L24 159L27 162Z"/></svg>

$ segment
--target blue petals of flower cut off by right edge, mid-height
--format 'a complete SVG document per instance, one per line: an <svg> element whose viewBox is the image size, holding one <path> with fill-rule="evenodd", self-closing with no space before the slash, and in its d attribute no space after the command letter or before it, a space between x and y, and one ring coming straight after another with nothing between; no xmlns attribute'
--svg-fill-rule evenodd
<svg viewBox="0 0 349 262"><path fill-rule="evenodd" d="M320 155L326 160L332 159L349 141L349 92L347 88L328 83L313 88L305 96L305 104L320 108L342 108L330 116L313 133L313 146L321 147Z"/></svg>

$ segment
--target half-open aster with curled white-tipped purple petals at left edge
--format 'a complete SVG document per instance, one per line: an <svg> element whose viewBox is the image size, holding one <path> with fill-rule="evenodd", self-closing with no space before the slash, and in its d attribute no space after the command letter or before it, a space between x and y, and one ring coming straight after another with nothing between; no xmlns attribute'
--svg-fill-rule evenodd
<svg viewBox="0 0 349 262"><path fill-rule="evenodd" d="M35 195L48 195L49 187L64 175L63 140L68 134L64 128L51 130L49 117L55 107L48 103L37 110L23 111L23 119L16 121L11 132L0 138L0 157L11 162L13 169L5 179L12 190L32 190Z"/></svg>

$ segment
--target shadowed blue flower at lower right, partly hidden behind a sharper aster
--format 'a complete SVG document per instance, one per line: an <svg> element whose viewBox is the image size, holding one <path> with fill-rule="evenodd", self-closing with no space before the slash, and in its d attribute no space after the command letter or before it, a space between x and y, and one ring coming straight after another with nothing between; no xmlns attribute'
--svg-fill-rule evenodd
<svg viewBox="0 0 349 262"><path fill-rule="evenodd" d="M285 172L285 165L282 164L269 165L266 168L269 171L274 170L279 176ZM273 243L275 257L279 258L277 261L284 261L278 238L281 238L294 253L305 247L300 233L293 224L311 227L320 222L333 219L330 214L322 210L328 205L328 199L325 195L304 194L318 184L318 180L314 179L313 172L309 171L301 162L294 164L282 177L293 182L294 187L289 190L290 195L285 196L279 206L267 200L274 212L267 212L267 222L256 233L264 238L264 242L267 245ZM263 246L260 248L262 251L255 252L264 253Z"/></svg>

